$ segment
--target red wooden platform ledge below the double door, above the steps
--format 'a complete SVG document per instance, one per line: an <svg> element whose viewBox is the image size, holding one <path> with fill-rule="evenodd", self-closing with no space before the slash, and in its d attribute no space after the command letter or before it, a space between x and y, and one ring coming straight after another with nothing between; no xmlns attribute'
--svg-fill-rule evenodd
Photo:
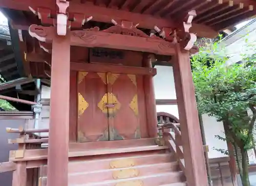
<svg viewBox="0 0 256 186"><path fill-rule="evenodd" d="M140 152L167 149L165 146L157 146L155 138L145 138L136 140L116 140L87 143L70 143L69 157L93 156L104 154L118 154L127 152ZM25 150L23 158L15 158L17 151L10 151L10 161L35 161L47 159L48 149L28 149Z"/></svg>

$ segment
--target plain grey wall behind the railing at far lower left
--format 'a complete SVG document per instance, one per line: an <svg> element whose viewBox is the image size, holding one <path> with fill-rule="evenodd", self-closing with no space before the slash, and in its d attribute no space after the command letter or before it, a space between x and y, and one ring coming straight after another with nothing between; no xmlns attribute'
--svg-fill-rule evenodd
<svg viewBox="0 0 256 186"><path fill-rule="evenodd" d="M17 150L16 144L8 144L8 139L18 138L17 134L8 134L6 127L18 128L25 126L25 119L0 119L0 162L9 161L9 151ZM12 185L12 172L0 173L0 185Z"/></svg>

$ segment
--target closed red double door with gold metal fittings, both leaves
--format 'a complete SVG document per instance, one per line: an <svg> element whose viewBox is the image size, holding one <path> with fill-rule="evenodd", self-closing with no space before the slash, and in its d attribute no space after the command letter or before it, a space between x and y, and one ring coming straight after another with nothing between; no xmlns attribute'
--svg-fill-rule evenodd
<svg viewBox="0 0 256 186"><path fill-rule="evenodd" d="M78 73L78 142L140 138L136 75Z"/></svg>

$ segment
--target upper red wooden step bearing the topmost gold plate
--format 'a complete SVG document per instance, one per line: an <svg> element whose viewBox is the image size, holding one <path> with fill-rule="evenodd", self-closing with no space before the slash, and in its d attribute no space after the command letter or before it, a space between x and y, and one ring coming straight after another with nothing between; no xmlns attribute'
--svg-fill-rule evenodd
<svg viewBox="0 0 256 186"><path fill-rule="evenodd" d="M134 167L149 164L159 164L159 163L170 163L174 162L175 156L172 153L152 153L147 152L137 152L137 153L125 153L125 154L115 154L113 157L103 158L94 156L93 160L80 160L80 161L70 161L69 163L69 173L77 172L91 172L97 170L106 170L111 168L125 168ZM121 155L121 156L120 156ZM97 158L98 157L98 158ZM41 176L47 175L47 166L40 168Z"/></svg>

